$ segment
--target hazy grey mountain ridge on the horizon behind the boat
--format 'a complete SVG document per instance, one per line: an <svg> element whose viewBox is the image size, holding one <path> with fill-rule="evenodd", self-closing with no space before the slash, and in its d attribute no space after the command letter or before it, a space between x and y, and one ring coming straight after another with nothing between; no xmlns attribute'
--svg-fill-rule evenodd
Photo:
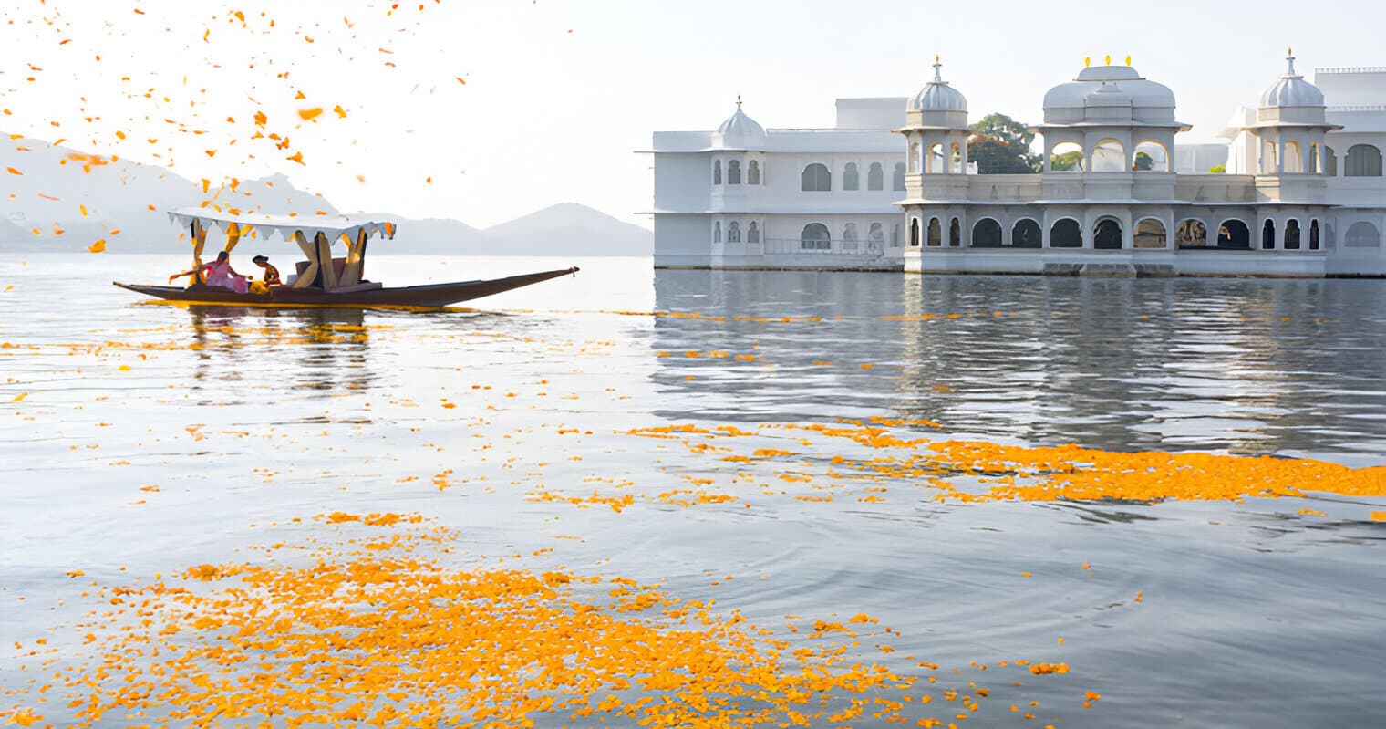
<svg viewBox="0 0 1386 729"><path fill-rule="evenodd" d="M202 183L166 168L126 159L90 164L79 150L42 140L18 139L0 144L0 249L85 251L96 240L107 252L173 252L179 231L166 211L205 198ZM297 190L274 175L243 180L219 202L265 212L338 209L322 195ZM577 202L561 202L523 218L477 229L453 219L409 219L391 213L399 225L395 240L373 247L377 254L406 255L564 255L643 256L653 249L653 233Z"/></svg>

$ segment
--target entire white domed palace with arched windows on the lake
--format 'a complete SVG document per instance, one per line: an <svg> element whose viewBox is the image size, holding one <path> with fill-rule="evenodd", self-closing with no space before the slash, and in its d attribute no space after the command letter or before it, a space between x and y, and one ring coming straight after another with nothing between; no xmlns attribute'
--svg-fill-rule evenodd
<svg viewBox="0 0 1386 729"><path fill-rule="evenodd" d="M654 266L1386 276L1386 68L1286 64L1185 148L1168 87L1085 65L1044 97L1031 175L977 173L937 62L912 98L839 98L833 129L737 101L714 132L654 133Z"/></svg>

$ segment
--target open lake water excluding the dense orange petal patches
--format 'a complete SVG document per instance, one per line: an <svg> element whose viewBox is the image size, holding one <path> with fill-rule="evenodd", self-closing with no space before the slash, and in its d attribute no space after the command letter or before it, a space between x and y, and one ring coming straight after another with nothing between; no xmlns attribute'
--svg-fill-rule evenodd
<svg viewBox="0 0 1386 729"><path fill-rule="evenodd" d="M628 432L881 416L937 421L938 438L1386 464L1380 281L374 259L401 283L584 269L423 315L184 309L105 284L184 263L0 258L0 686L37 674L14 642L83 650L69 626L91 606L69 570L148 578L248 559L323 511L419 511L460 531L463 567L663 581L773 628L868 613L941 685L966 690L972 661L1071 667L994 668L988 683L1024 687L969 723L1386 722L1386 522L1368 517L1383 499L958 504L887 481L881 500L809 502ZM599 480L644 498L620 513L527 498ZM657 499L693 480L740 502ZM1084 710L1089 689L1102 700ZM1031 700L1040 721L1006 710Z"/></svg>

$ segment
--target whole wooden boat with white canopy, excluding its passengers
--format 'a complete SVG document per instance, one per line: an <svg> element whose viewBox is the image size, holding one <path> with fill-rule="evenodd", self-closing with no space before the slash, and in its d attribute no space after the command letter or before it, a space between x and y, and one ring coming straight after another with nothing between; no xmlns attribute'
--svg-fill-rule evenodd
<svg viewBox="0 0 1386 729"><path fill-rule="evenodd" d="M398 226L392 220L346 215L241 215L238 211L215 208L179 208L169 211L169 220L188 230L193 245L193 272L202 266L207 237L216 231L226 236L222 248L230 252L244 238L267 241L279 237L294 243L304 255L297 273L283 286L255 286L248 291L234 291L222 286L208 286L195 279L191 286L112 284L166 301L183 304L213 304L230 306L345 306L345 308L439 308L500 294L578 272L577 266L538 273L523 273L505 279L478 279L442 284L387 287L365 279L366 248L373 238L394 238ZM333 256L333 245L345 248L345 255ZM190 274L193 277L195 274Z"/></svg>

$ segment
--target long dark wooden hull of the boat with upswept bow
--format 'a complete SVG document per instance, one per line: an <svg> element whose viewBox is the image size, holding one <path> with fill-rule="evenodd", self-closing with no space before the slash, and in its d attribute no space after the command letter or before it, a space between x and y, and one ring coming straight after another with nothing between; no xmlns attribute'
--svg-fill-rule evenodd
<svg viewBox="0 0 1386 729"><path fill-rule="evenodd" d="M395 288L369 288L362 291L323 291L320 288L290 288L276 286L266 294L238 294L230 288L218 286L193 284L187 288L173 286L146 286L146 284L112 284L166 301L183 304L219 304L229 306L345 306L345 308L373 308L373 306L420 306L438 308L489 297L520 288L549 279L577 273L578 267L561 270L546 270L539 273L524 273L506 279L489 279L475 281L453 281L446 284L405 286Z"/></svg>

